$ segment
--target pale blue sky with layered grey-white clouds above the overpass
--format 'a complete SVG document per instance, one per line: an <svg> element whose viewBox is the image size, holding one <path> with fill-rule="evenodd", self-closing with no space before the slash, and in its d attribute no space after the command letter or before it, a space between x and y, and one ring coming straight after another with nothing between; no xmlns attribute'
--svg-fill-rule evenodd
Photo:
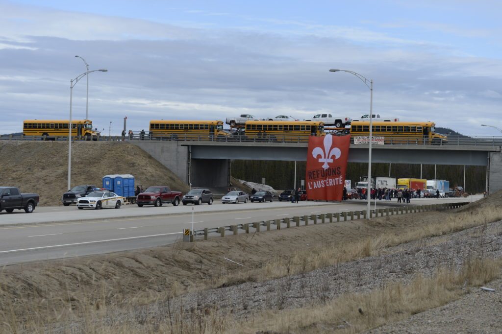
<svg viewBox="0 0 502 334"><path fill-rule="evenodd" d="M103 134L153 119L373 112L502 135L498 1L0 0L0 133L68 119L86 70ZM73 88L84 119L86 77ZM111 123L110 123L111 122Z"/></svg>

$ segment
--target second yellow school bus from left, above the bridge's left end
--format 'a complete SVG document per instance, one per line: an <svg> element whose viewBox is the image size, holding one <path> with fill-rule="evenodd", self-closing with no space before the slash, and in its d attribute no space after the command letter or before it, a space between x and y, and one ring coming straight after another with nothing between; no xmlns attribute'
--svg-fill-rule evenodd
<svg viewBox="0 0 502 334"><path fill-rule="evenodd" d="M224 140L229 133L220 120L151 120L149 135L168 140Z"/></svg>

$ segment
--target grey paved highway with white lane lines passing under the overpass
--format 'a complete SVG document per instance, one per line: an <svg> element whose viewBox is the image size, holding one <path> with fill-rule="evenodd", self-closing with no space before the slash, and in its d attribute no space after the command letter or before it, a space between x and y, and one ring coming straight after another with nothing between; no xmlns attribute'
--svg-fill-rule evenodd
<svg viewBox="0 0 502 334"><path fill-rule="evenodd" d="M413 205L475 201L467 199L414 199ZM402 206L396 200L376 201L377 208ZM71 207L37 208L33 214L0 214L0 265L123 250L155 247L181 238L182 230L252 223L284 217L364 210L361 200L342 203L289 202L213 204L77 210ZM37 218L40 216L39 218ZM19 218L14 223L13 218ZM45 219L45 223L43 221ZM32 224L30 223L32 221ZM33 223L37 224L33 224ZM47 223L55 222L55 223ZM43 223L43 224L42 224Z"/></svg>

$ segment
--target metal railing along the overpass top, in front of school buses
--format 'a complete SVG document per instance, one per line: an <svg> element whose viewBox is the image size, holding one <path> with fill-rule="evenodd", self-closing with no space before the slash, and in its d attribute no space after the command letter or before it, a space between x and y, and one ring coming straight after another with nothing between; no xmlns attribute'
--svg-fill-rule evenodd
<svg viewBox="0 0 502 334"><path fill-rule="evenodd" d="M84 136L73 136L73 140L83 141L131 141L131 140L149 140L149 141L216 141L216 142L269 142L269 143L307 143L309 140L308 136L255 136L246 137L245 135L230 135L230 136L204 136L204 135L157 135L150 136L148 134L142 135L139 132L135 132L133 135L127 135L124 138L121 136L97 136L93 138L86 138ZM24 136L24 135L0 135L0 140L56 140L56 141L67 141L68 136ZM350 143L354 143L354 137L350 138ZM385 145L427 145L427 146L502 146L502 136L448 136L448 140L438 140L431 142L427 138L393 138L389 137L386 139ZM379 145L374 145L378 147Z"/></svg>

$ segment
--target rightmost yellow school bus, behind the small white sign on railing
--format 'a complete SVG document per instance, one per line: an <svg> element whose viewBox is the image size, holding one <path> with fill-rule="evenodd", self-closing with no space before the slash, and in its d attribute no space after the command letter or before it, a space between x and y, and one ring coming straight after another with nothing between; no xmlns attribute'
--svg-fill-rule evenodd
<svg viewBox="0 0 502 334"><path fill-rule="evenodd" d="M448 138L434 132L434 122L372 122L372 136L384 137L386 144L433 144L446 143ZM369 121L358 121L350 125L350 135L369 136Z"/></svg>

